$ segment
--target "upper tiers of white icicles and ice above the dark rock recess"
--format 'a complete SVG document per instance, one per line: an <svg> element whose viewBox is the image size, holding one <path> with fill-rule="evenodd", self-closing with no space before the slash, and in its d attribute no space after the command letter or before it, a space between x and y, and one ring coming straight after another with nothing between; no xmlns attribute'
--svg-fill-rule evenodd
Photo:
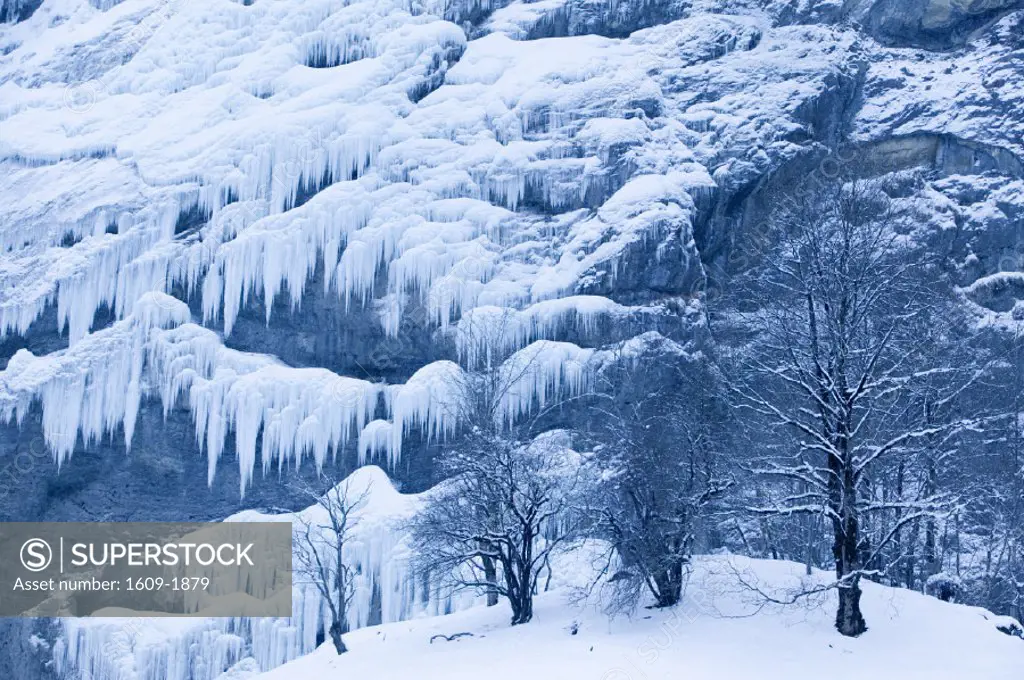
<svg viewBox="0 0 1024 680"><path fill-rule="evenodd" d="M104 0L101 8L113 4ZM641 84L613 69L591 73L610 58L610 46L595 49L594 63L584 60L587 68L553 65L552 77L541 78L551 84L541 85L512 77L520 60L531 63L528 45L492 40L475 58L486 63L492 57L485 50L494 50L508 77L484 85L486 74L463 63L470 56L449 62L467 41L439 16L471 13L488 2L427 2L427 13L412 16L409 3L399 0L290 4L184 3L176 11L191 20L170 28L187 25L185 38L211 43L200 43L209 47L210 58L185 58L177 51L182 38L154 26L144 45L134 46L140 56L96 85L97 105L75 114L74 125L57 125L59 134L37 121L62 121L71 116L63 109L37 117L15 111L5 119L18 143L9 159L0 160L11 160L18 175L30 167L38 171L33 185L74 186L81 196L66 211L23 211L0 229L0 248L31 243L40 251L24 272L0 273L0 282L11 284L0 292L0 338L25 335L55 303L58 331L67 330L74 344L92 329L97 309L124 318L145 292L170 293L177 286L201 292L204 323L220 320L229 335L253 297L262 298L268 314L285 291L297 306L316 270L346 305L381 301L382 324L394 334L411 296L419 296L430 321L443 326L474 306L516 307L560 297L573 288L573 271L613 259L616 253L607 247L615 241L612 227L628 232L628 220L582 224L589 243L571 242L566 252L541 236L535 250L546 246L551 252L534 253L524 247L527 232L544 216L513 214L527 200L551 214L593 207L625 181L605 166L614 162L609 150L640 144L650 130L631 119L623 141L616 124L632 108L621 99ZM205 26L237 32L239 42L221 45ZM295 46L296 53L273 52L281 61L271 59L278 42ZM265 70L276 80L256 82L248 69L231 69L241 58L232 49L255 50L245 55L265 57L260 63L272 63ZM614 47L624 54L636 49ZM174 54L169 73L157 78L145 70L146 63L165 63L168 53ZM335 67L341 70L336 77L285 77L308 60L343 66ZM359 61L373 61L373 69ZM434 62L462 71L445 78L441 96L409 109L408 92L435 79L429 66ZM205 71L212 68L226 71ZM173 136L173 125L150 125L143 134L135 129L138 121L119 119L122 108L113 105L157 90L161 103L140 115L173 111L194 103L214 76L246 92L265 90L268 98L260 103L240 92L237 118L217 123L216 134L210 133L215 143L202 154L172 153L196 142ZM653 85L644 80L644 86ZM274 97L275 90L289 88L294 91ZM287 105L303 96L310 99L308 110ZM495 103L484 108L481 100ZM65 104L62 98L51 103ZM234 115L233 104L229 109ZM95 134L68 132L80 128ZM538 130L545 133L534 138ZM137 198L128 201L126 195ZM207 223L183 238L176 231L193 212ZM581 221L593 220L573 215L562 225L572 229ZM523 257L516 261L502 243L511 228L521 231L515 245ZM69 239L73 245L57 247ZM595 244L602 252L591 257ZM577 262L581 254L586 259ZM386 290L379 288L382 278ZM545 289L551 280L558 285Z"/></svg>

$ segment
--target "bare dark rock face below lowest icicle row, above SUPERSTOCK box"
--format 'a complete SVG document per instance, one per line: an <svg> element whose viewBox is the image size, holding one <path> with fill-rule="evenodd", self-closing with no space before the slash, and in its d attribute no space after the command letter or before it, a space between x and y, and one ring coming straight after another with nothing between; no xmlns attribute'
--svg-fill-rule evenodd
<svg viewBox="0 0 1024 680"><path fill-rule="evenodd" d="M243 499L231 448L218 466L217 482L207 484L206 457L195 447L187 412L175 411L165 420L158 407L143 408L140 415L130 453L118 439L80 444L59 470L36 419L20 429L6 428L0 516L4 521L207 521L248 508L296 510L308 501L293 485L329 486L309 465L286 467L257 478ZM408 480L410 488L429 484L432 449L413 447L395 478ZM355 457L354 448L342 452L328 473L343 478Z"/></svg>

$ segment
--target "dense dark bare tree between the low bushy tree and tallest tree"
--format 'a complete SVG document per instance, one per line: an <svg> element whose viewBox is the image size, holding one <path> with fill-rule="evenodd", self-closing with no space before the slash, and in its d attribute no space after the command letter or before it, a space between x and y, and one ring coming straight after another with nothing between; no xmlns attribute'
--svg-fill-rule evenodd
<svg viewBox="0 0 1024 680"><path fill-rule="evenodd" d="M702 355L662 344L620 353L595 399L594 528L615 553L611 610L632 609L644 590L655 606L679 602L698 534L732 483L721 382Z"/></svg>

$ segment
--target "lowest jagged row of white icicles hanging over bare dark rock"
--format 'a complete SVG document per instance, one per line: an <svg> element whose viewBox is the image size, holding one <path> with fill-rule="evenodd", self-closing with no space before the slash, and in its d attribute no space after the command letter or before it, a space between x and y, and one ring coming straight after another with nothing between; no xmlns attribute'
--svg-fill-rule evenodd
<svg viewBox="0 0 1024 680"><path fill-rule="evenodd" d="M498 417L512 422L556 394L584 391L594 355L548 340L513 353L501 369L514 380ZM411 432L428 439L452 434L460 424L454 407L462 398L462 372L453 362L436 362L404 384L385 385L326 369L291 368L225 347L216 333L189 323L183 302L147 293L127 318L68 350L46 356L19 350L0 373L0 421L20 425L38 402L44 437L60 465L79 438L88 445L119 428L130 448L152 386L165 414L187 405L207 452L210 483L233 432L244 494L257 460L264 473L298 466L306 457L318 469L355 442L360 463L382 456L394 465Z"/></svg>

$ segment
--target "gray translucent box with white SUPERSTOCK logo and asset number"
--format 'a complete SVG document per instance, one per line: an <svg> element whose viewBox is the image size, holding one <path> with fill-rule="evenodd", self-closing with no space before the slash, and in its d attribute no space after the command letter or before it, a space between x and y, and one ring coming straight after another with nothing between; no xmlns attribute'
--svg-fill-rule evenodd
<svg viewBox="0 0 1024 680"><path fill-rule="evenodd" d="M290 617L290 522L0 522L0 617Z"/></svg>

